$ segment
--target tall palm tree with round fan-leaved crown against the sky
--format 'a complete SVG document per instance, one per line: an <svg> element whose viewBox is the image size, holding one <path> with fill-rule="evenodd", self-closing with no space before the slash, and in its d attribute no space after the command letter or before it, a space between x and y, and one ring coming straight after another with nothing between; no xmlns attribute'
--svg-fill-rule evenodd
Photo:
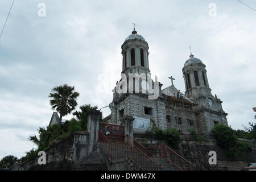
<svg viewBox="0 0 256 182"><path fill-rule="evenodd" d="M67 84L55 86L52 89L52 93L49 94L50 104L52 109L60 114L60 122L64 115L70 114L72 110L74 110L77 106L76 98L79 96L78 92L74 92L74 86L68 86Z"/></svg>

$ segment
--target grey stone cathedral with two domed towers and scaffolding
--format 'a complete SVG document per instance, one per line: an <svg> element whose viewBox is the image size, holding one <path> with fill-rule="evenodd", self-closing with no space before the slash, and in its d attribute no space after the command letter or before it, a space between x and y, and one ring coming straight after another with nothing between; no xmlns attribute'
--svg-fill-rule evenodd
<svg viewBox="0 0 256 182"><path fill-rule="evenodd" d="M157 77L152 80L148 43L135 28L121 48L122 78L113 89L111 114L104 118L106 121L121 125L124 115L133 116L135 133L148 130L152 121L161 129L175 128L180 133L191 128L209 133L217 123L228 125L222 101L212 96L205 64L192 53L182 68L185 93L180 93L172 77L172 85L166 89Z"/></svg>

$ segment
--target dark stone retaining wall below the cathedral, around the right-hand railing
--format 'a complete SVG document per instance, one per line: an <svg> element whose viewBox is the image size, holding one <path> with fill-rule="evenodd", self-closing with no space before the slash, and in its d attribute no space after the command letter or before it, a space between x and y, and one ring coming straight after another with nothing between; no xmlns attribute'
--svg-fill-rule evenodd
<svg viewBox="0 0 256 182"><path fill-rule="evenodd" d="M204 134L201 134L204 135ZM162 141L149 137L146 134L134 134L136 140L141 142L144 146L156 146L163 144ZM197 142L193 139L191 134L181 134L181 142L179 144L179 150L175 150L178 154L183 156L189 162L195 164L199 170L206 171L233 171L241 170L248 166L250 163L256 163L256 142L255 140L247 140L253 146L250 152L247 152L243 156L239 156L235 160L229 160L220 146L217 145L213 135L207 135L207 142ZM239 139L243 140L243 139ZM208 155L210 151L216 151L217 153L217 165L210 165Z"/></svg>

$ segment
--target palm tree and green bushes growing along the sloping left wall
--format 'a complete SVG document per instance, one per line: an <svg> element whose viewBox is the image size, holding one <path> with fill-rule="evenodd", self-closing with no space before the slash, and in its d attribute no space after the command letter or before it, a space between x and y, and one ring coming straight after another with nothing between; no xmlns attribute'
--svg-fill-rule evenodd
<svg viewBox="0 0 256 182"><path fill-rule="evenodd" d="M56 110L60 114L59 125L39 127L38 134L30 136L28 139L36 144L37 148L32 148L30 151L26 152L26 156L18 159L13 155L5 156L0 160L1 168L9 168L15 163L23 163L27 160L31 160L38 155L39 151L46 150L46 148L51 147L53 144L67 138L69 135L75 133L76 131L86 131L88 116L90 110L98 109L97 106L82 105L80 106L81 111L75 111L77 102L76 99L79 96L78 92L75 92L74 86L68 86L67 84L56 86L52 89L52 93L49 94L51 98L50 105L53 110ZM74 117L65 123L61 123L62 117L67 114L73 114ZM102 116L100 118L102 120Z"/></svg>

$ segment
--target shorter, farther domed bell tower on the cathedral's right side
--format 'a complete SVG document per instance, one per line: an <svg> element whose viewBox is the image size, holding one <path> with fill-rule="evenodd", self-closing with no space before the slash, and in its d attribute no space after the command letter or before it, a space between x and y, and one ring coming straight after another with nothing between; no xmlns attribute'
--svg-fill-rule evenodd
<svg viewBox="0 0 256 182"><path fill-rule="evenodd" d="M212 96L212 89L210 89L205 68L205 64L191 53L182 69L186 88L185 94L198 104L193 110L201 133L209 133L212 127L218 123L228 125L226 119L228 114L222 109L222 101L217 96Z"/></svg>

